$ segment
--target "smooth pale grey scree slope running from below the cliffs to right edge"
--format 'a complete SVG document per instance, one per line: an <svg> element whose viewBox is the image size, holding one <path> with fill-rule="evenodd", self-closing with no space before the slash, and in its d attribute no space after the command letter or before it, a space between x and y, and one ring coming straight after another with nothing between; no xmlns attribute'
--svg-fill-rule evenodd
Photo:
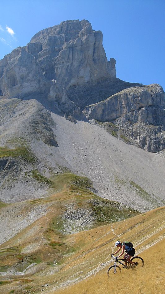
<svg viewBox="0 0 165 294"><path fill-rule="evenodd" d="M51 116L61 156L73 172L93 181L99 196L141 211L164 204L163 155L129 146L89 122Z"/></svg>

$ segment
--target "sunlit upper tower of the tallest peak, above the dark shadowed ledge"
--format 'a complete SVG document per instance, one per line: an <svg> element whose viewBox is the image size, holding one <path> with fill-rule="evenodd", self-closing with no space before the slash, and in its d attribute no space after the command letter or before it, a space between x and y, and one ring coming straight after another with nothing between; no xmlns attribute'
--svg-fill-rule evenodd
<svg viewBox="0 0 165 294"><path fill-rule="evenodd" d="M88 20L67 20L38 32L26 49L33 54L48 80L69 89L116 77L115 59L107 61L102 32Z"/></svg>

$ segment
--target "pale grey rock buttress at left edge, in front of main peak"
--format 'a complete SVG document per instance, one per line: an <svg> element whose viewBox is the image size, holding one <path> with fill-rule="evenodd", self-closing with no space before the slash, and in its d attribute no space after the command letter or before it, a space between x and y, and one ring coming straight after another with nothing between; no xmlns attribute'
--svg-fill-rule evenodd
<svg viewBox="0 0 165 294"><path fill-rule="evenodd" d="M57 81L47 80L36 58L21 47L0 61L0 94L7 99L37 99L58 112L80 114L66 90Z"/></svg>

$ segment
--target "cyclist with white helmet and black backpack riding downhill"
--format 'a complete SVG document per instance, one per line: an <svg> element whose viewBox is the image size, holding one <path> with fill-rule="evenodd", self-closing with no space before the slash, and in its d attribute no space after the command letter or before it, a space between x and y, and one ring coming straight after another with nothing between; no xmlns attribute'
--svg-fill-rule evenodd
<svg viewBox="0 0 165 294"><path fill-rule="evenodd" d="M133 262L130 260L130 258L135 255L135 249L132 247L129 247L128 245L125 245L124 243L121 243L120 241L116 241L115 246L118 247L119 249L115 253L112 253L111 256L115 255L116 253L118 253L122 249L122 252L120 253L120 255L117 258L122 256L125 251L126 254L124 255L124 258L126 258L127 261L129 263L131 263L133 266ZM125 262L125 265L127 266L127 262Z"/></svg>

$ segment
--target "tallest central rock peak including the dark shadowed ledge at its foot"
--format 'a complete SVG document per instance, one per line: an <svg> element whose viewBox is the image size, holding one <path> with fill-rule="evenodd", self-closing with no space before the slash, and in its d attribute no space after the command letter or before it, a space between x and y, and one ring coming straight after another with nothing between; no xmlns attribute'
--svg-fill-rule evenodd
<svg viewBox="0 0 165 294"><path fill-rule="evenodd" d="M102 32L88 20L67 20L38 32L26 46L48 80L58 80L70 100L80 107L119 91L141 86L116 78L116 61L107 60Z"/></svg>

